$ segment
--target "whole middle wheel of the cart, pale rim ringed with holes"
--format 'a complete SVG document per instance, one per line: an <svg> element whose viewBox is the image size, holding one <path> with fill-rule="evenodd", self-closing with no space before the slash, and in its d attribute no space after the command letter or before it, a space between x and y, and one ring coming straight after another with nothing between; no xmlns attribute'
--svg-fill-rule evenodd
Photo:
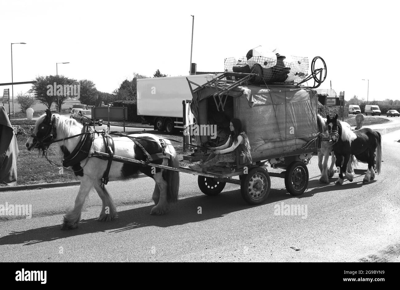
<svg viewBox="0 0 400 290"><path fill-rule="evenodd" d="M250 169L248 174L243 175L241 181L240 193L246 203L250 205L263 203L270 194L270 175L261 167Z"/></svg>

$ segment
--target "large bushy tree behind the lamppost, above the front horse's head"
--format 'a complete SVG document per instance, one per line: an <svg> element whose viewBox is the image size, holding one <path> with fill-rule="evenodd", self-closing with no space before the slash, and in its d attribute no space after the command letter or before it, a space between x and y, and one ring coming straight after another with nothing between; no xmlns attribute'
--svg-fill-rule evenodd
<svg viewBox="0 0 400 290"><path fill-rule="evenodd" d="M62 103L72 95L70 91L65 90L66 86L73 86L76 79L69 79L64 75L47 75L46 77L36 77L36 83L32 84L32 88L28 93L33 93L34 97L42 103L48 109L52 106L52 103L56 103L58 99L58 106L62 107ZM56 87L54 87L54 84ZM58 87L59 85L62 88Z"/></svg>

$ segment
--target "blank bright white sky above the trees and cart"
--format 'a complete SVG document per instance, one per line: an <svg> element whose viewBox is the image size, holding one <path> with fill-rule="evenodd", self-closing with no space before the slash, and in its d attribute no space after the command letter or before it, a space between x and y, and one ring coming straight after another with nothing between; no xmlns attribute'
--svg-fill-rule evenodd
<svg viewBox="0 0 400 290"><path fill-rule="evenodd" d="M397 1L5 1L0 0L0 83L58 73L90 79L112 92L133 73L159 69L188 75L222 71L224 59L258 45L286 56L324 58L328 75L320 88L345 99L400 99L399 2ZM310 69L309 69L310 71ZM308 83L312 85L312 83ZM0 95L3 89L0 87ZM11 93L11 86L10 93ZM14 86L14 95L30 85Z"/></svg>

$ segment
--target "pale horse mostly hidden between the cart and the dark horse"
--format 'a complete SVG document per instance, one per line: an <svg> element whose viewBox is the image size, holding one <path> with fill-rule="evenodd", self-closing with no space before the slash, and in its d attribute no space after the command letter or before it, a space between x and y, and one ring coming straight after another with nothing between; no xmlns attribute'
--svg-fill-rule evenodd
<svg viewBox="0 0 400 290"><path fill-rule="evenodd" d="M351 128L348 123L346 122L341 122L341 123L343 126ZM330 137L328 133L328 126L326 125L326 119L321 115L318 115L317 124L318 124L318 132L323 134L324 139L329 139ZM333 142L331 140L330 141L323 140L321 149L318 150L318 167L321 171L321 177L319 179L320 183L329 183L329 178L333 177L335 173L336 158L332 149L332 145ZM332 156L332 161L328 171L329 155ZM356 159L354 158L354 156L352 156L351 162L348 163L347 171L351 174L354 174L353 168L355 165L356 165Z"/></svg>

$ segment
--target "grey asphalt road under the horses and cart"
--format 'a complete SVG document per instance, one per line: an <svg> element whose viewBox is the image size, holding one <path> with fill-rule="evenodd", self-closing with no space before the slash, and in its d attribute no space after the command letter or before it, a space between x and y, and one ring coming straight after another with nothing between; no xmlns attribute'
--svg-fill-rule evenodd
<svg viewBox="0 0 400 290"><path fill-rule="evenodd" d="M375 181L362 184L366 164L360 163L352 183L335 186L336 177L321 185L313 157L302 196L289 195L284 180L272 177L270 196L258 206L244 202L238 185L227 184L216 197L203 195L197 176L181 173L177 205L167 215L150 216L154 181L114 181L107 187L116 220L96 221L101 201L93 192L80 227L62 231L77 186L0 193L0 204L31 204L33 211L30 219L0 217L0 252L3 261L19 262L400 261L398 139L400 130L383 135L383 171ZM282 203L307 211L277 215Z"/></svg>

